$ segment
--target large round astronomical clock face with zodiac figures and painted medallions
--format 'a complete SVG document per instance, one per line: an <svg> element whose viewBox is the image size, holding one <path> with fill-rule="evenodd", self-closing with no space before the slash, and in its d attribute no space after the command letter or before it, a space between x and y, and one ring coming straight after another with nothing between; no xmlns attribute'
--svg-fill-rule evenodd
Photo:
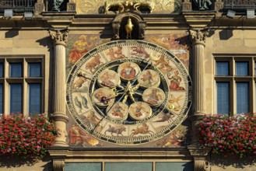
<svg viewBox="0 0 256 171"><path fill-rule="evenodd" d="M67 105L87 133L117 145L162 138L191 106L188 72L170 51L141 40L117 40L73 66Z"/></svg>

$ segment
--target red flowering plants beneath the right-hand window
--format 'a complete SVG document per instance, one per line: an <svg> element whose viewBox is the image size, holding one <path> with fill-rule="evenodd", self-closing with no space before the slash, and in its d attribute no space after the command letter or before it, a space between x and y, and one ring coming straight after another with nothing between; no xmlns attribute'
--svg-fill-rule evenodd
<svg viewBox="0 0 256 171"><path fill-rule="evenodd" d="M225 156L256 154L256 117L205 115L199 123L199 143Z"/></svg>

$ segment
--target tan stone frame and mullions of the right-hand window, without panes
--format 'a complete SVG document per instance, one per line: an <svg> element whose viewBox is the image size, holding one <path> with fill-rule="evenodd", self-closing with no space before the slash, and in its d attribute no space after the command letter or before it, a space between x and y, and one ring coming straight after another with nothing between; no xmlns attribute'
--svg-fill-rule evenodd
<svg viewBox="0 0 256 171"><path fill-rule="evenodd" d="M229 61L229 69L230 75L222 76L217 75L217 62L225 62ZM248 75L236 75L236 62L245 61L248 62ZM256 109L256 55L223 55L223 54L215 54L214 55L214 82L215 82L215 89L214 89L214 98L215 104L214 109L217 113L218 106L217 106L217 82L230 82L230 115L237 114L237 82L248 82L249 84L249 112L254 113Z"/></svg>

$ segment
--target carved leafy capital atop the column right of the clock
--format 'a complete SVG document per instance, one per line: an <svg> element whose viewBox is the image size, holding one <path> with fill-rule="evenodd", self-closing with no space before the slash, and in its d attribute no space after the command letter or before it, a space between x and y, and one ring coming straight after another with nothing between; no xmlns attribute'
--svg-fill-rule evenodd
<svg viewBox="0 0 256 171"><path fill-rule="evenodd" d="M209 29L204 30L189 30L190 39L192 44L202 44L205 46L206 37L209 35Z"/></svg>

